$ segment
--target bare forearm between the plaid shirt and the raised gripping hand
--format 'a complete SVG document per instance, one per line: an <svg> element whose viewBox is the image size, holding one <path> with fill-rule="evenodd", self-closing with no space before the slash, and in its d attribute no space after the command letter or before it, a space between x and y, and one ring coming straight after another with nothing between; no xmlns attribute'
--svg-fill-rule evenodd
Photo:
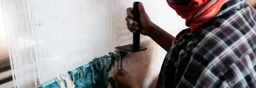
<svg viewBox="0 0 256 88"><path fill-rule="evenodd" d="M172 42L175 37L173 37L171 34L167 33L155 24L151 28L152 29L150 29L150 33L148 34L148 36L153 39L157 44L159 44L162 48L164 48L164 50L168 51L172 46Z"/></svg>

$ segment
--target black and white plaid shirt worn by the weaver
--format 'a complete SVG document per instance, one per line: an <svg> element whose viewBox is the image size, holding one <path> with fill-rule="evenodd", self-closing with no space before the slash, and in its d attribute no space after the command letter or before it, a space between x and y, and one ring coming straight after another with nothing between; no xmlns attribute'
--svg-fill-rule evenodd
<svg viewBox="0 0 256 88"><path fill-rule="evenodd" d="M256 88L256 10L246 0L184 36L166 54L159 88Z"/></svg>

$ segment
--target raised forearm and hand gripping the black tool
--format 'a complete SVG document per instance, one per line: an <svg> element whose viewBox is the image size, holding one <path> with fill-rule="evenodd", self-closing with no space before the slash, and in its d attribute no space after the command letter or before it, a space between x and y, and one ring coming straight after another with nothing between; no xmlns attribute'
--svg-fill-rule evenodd
<svg viewBox="0 0 256 88"><path fill-rule="evenodd" d="M132 15L133 8L127 8L127 17L125 18L127 28L130 32L135 33L136 30L139 30L138 23L131 20L133 19ZM151 39L153 39L157 44L159 44L164 50L168 51L169 48L172 46L172 42L174 40L174 37L155 25L151 22L149 19L147 13L144 10L144 7L142 3L139 4L139 11L140 11L140 22L141 22L141 34L145 36L149 36ZM131 24L130 21L133 21Z"/></svg>

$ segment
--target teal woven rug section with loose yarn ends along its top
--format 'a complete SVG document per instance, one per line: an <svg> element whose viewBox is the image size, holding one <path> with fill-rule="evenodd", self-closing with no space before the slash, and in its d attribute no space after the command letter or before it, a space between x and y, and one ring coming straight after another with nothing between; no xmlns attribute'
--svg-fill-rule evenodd
<svg viewBox="0 0 256 88"><path fill-rule="evenodd" d="M115 66L122 67L122 53L119 51L110 52L109 55L94 58L89 64L80 66L75 70L69 71L62 76L56 77L49 82L41 84L42 88L107 88L108 83L112 88L116 88L114 78L108 77L109 71ZM107 66L107 63L110 63Z"/></svg>

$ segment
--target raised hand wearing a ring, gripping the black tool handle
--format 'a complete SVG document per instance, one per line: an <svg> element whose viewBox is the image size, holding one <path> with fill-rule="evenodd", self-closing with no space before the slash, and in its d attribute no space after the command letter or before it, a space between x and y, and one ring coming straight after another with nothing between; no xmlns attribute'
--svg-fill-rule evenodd
<svg viewBox="0 0 256 88"><path fill-rule="evenodd" d="M133 10L132 7L126 9L127 17L125 18L125 20L127 22L127 28L129 29L129 31L132 33L135 33L137 30L139 30L138 23L133 21L132 25L129 24L130 19L133 19L132 10ZM150 21L142 3L139 3L139 11L140 11L140 22L142 25L141 34L148 36L154 24Z"/></svg>

